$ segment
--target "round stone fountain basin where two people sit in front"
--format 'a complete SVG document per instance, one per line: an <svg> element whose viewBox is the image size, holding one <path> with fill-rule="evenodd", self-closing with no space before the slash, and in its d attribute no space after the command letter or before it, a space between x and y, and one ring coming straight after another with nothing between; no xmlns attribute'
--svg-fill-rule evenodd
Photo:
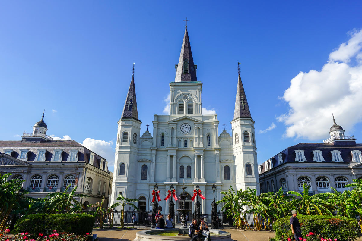
<svg viewBox="0 0 362 241"><path fill-rule="evenodd" d="M232 241L231 233L219 231L217 229L209 229L212 241ZM178 228L167 228L167 229L147 229L138 231L136 233L136 238L133 241L167 241L167 240L177 240L177 241L190 241L189 236L167 236L162 235L169 232L178 233Z"/></svg>

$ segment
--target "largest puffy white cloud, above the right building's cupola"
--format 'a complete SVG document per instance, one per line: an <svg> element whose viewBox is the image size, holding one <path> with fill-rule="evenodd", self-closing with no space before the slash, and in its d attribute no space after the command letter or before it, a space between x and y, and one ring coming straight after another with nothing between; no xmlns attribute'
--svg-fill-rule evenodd
<svg viewBox="0 0 362 241"><path fill-rule="evenodd" d="M287 126L285 137L328 137L332 112L337 124L347 131L361 121L362 30L350 35L348 42L329 54L320 71L299 72L291 79L282 96L289 104L289 112L277 117Z"/></svg>

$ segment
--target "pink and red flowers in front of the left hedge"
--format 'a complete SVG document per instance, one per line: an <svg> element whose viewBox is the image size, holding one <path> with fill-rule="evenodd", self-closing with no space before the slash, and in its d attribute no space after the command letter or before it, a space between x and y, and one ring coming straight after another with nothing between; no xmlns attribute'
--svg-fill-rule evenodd
<svg viewBox="0 0 362 241"><path fill-rule="evenodd" d="M85 235L77 235L68 232L57 232L55 229L51 234L46 236L43 233L38 235L30 234L28 232L15 234L13 237L8 237L9 229L0 230L0 241L90 241L92 234L86 233Z"/></svg>

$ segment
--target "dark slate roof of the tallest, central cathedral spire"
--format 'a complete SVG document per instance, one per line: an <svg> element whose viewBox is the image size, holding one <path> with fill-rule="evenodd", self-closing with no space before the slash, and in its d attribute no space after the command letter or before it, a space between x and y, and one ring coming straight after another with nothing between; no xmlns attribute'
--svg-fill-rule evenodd
<svg viewBox="0 0 362 241"><path fill-rule="evenodd" d="M189 63L188 73L184 73L185 61L188 61ZM192 58L189 34L186 26L184 40L182 41L180 59L178 60L178 65L176 65L175 81L197 81L196 68L197 65L194 65L194 60Z"/></svg>

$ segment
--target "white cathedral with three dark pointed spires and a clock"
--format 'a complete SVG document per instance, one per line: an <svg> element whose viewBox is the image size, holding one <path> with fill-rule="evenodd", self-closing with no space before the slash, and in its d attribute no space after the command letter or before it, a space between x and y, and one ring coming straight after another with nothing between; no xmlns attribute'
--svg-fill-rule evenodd
<svg viewBox="0 0 362 241"><path fill-rule="evenodd" d="M169 115L155 114L153 130L140 136L142 122L138 119L134 76L127 94L121 119L118 121L115 148L114 176L111 203L119 193L139 199L140 209L151 209L152 190L160 190L162 213L167 213L164 201L171 184L176 194L185 182L186 192L192 197L199 185L203 196L202 214L211 213L212 185L216 185L215 199L220 191L257 189L259 178L254 136L254 121L245 96L240 74L237 81L232 134L219 133L217 115L202 115L202 82L196 77L187 31L182 42L180 59L176 65L175 80L169 83L171 91ZM166 83L165 83L166 84ZM233 104L233 103L230 103ZM186 208L194 211L194 203L186 200ZM178 202L176 202L176 207ZM220 205L219 205L220 208Z"/></svg>

